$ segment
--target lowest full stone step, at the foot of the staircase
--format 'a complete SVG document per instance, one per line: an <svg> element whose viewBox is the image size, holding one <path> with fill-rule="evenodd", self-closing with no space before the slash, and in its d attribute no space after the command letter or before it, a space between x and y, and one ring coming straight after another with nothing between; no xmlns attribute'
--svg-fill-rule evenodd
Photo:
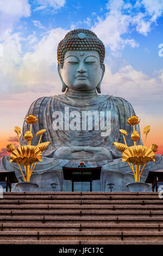
<svg viewBox="0 0 163 256"><path fill-rule="evenodd" d="M163 231L0 231L0 240L162 241Z"/></svg>

